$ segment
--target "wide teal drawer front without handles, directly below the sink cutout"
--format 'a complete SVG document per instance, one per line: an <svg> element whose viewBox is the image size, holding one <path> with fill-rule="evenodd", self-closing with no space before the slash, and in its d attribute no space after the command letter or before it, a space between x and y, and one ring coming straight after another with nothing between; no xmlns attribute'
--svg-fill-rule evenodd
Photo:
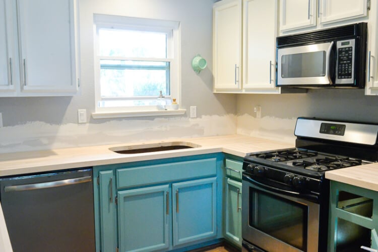
<svg viewBox="0 0 378 252"><path fill-rule="evenodd" d="M118 169L117 189L215 176L216 158Z"/></svg>

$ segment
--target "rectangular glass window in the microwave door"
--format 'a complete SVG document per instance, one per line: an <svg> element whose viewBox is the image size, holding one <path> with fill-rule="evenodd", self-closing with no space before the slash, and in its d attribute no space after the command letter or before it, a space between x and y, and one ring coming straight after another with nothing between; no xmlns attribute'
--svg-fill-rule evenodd
<svg viewBox="0 0 378 252"><path fill-rule="evenodd" d="M326 52L305 52L282 55L281 77L301 78L326 75Z"/></svg>

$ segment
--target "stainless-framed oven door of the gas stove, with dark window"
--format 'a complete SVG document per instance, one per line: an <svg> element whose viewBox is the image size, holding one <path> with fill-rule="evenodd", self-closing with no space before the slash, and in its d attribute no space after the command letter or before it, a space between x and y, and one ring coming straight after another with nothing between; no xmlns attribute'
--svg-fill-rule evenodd
<svg viewBox="0 0 378 252"><path fill-rule="evenodd" d="M318 251L317 203L243 174L242 237L269 252Z"/></svg>

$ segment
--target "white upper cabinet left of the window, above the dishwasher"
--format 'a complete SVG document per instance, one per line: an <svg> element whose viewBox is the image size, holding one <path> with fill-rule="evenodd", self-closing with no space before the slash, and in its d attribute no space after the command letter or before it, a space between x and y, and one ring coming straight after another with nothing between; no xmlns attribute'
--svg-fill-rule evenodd
<svg viewBox="0 0 378 252"><path fill-rule="evenodd" d="M77 92L76 0L0 0L0 97Z"/></svg>

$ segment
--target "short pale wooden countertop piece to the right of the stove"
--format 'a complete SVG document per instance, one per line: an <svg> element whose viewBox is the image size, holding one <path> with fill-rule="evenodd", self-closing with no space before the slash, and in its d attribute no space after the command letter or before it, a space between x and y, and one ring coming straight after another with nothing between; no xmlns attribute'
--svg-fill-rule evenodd
<svg viewBox="0 0 378 252"><path fill-rule="evenodd" d="M326 172L326 179L378 191L378 163L368 163Z"/></svg>

